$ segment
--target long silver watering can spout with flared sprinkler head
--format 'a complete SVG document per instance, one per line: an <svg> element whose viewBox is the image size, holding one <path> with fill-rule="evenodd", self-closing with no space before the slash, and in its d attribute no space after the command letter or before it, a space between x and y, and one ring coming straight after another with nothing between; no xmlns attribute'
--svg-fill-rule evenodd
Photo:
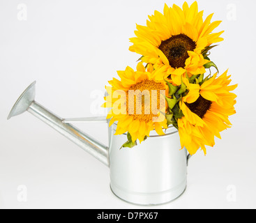
<svg viewBox="0 0 256 223"><path fill-rule="evenodd" d="M107 146L104 146L96 139L93 139L88 134L70 124L71 120L68 121L67 119L60 118L47 110L45 107L35 101L35 95L36 82L33 82L17 100L13 106L13 109L10 111L8 119L24 112L29 112L33 114L33 116L39 118L41 121L47 123L47 125L50 125L50 127L54 128L54 130L57 130L59 133L63 134L63 136L66 138L73 141L75 144L77 144L77 146L84 149L84 151L96 157L96 159L103 162L103 164L107 165L107 167L109 166ZM103 121L103 118L101 118L101 120Z"/></svg>

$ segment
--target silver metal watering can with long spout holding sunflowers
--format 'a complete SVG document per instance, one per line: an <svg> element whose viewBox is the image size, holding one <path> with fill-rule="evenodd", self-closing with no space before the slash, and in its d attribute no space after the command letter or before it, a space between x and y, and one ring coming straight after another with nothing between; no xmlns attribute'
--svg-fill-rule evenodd
<svg viewBox="0 0 256 223"><path fill-rule="evenodd" d="M172 201L186 190L190 155L186 149L180 150L176 128L171 126L163 136L152 131L142 144L120 150L127 137L114 135L114 123L108 130L109 146L105 146L71 124L75 121L107 123L105 117L60 118L34 100L35 84L22 93L8 119L27 111L103 162L110 168L110 187L117 197L149 206Z"/></svg>

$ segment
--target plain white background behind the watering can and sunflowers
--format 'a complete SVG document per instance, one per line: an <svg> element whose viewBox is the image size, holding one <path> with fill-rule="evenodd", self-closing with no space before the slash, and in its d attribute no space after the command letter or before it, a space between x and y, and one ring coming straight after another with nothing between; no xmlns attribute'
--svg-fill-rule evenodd
<svg viewBox="0 0 256 223"><path fill-rule="evenodd" d="M223 20L217 31L225 30L225 41L211 50L211 60L220 72L229 68L232 84L239 84L237 114L205 157L191 158L186 192L153 208L256 208L256 3L197 2L204 18L215 13L213 21ZM27 20L21 20L20 3ZM96 99L107 81L116 70L135 68L140 57L128 51L135 24L162 12L164 3L0 0L0 208L140 208L112 194L107 167L31 114L6 118L34 80L36 100L59 116L103 115L103 100ZM107 144L104 124L78 126ZM27 202L20 202L22 188Z"/></svg>

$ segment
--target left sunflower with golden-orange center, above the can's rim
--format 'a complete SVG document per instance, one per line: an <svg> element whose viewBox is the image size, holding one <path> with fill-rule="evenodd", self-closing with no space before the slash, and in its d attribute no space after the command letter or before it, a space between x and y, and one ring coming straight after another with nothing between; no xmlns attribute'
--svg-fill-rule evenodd
<svg viewBox="0 0 256 223"><path fill-rule="evenodd" d="M137 71L127 67L117 72L121 80L114 78L109 82L112 86L106 86L108 96L103 104L112 108L107 119L111 118L110 125L117 121L115 134L128 132L133 142L144 141L151 130L164 134L163 128L167 128L165 95L168 94L163 80L165 72L165 68L154 70L151 64L146 69L142 62L138 63Z"/></svg>

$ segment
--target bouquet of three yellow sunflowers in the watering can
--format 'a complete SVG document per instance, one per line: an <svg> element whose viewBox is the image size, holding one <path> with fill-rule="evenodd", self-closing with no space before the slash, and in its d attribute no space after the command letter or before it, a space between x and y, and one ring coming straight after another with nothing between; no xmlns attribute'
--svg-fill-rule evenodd
<svg viewBox="0 0 256 223"><path fill-rule="evenodd" d="M179 130L181 148L190 155L199 148L214 146L214 137L232 125L235 114L236 85L229 85L230 75L219 75L209 58L223 31L213 30L221 21L203 20L197 2L182 8L165 4L163 13L155 11L146 26L137 25L131 52L140 54L137 69L117 71L106 86L103 107L110 107L107 119L117 122L115 134L127 132L122 147L133 147L146 140L152 130L160 135L173 125ZM209 74L206 72L209 69ZM210 69L218 72L211 74ZM120 145L121 146L121 145Z"/></svg>

